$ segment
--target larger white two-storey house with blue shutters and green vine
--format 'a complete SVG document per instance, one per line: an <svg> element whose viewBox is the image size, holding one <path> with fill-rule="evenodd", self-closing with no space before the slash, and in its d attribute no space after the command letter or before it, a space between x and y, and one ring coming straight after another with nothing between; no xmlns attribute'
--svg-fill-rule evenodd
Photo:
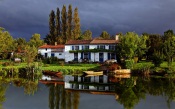
<svg viewBox="0 0 175 109"><path fill-rule="evenodd" d="M89 60L104 62L116 59L116 44L118 40L70 40L65 44L65 62Z"/></svg>

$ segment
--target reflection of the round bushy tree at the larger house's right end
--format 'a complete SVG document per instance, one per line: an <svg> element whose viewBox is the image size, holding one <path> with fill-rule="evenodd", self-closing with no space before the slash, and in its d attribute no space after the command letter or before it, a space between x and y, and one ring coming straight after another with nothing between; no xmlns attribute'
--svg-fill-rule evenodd
<svg viewBox="0 0 175 109"><path fill-rule="evenodd" d="M135 78L123 79L120 83L116 83L116 93L119 103L123 104L126 109L132 109L141 98L145 98L144 88L141 84L134 85Z"/></svg>

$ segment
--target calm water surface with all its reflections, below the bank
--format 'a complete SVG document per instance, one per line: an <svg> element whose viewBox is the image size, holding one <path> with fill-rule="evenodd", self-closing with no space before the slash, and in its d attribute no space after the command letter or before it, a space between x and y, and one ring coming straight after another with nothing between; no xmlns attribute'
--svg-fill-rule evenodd
<svg viewBox="0 0 175 109"><path fill-rule="evenodd" d="M53 82L54 81L54 82ZM70 76L0 79L2 109L175 109L175 79Z"/></svg>

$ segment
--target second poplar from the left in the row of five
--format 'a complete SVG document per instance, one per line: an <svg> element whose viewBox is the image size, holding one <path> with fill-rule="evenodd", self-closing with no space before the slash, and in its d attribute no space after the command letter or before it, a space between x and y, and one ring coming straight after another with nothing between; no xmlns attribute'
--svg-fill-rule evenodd
<svg viewBox="0 0 175 109"><path fill-rule="evenodd" d="M56 18L55 18L55 36L60 37L61 36L61 27L60 27L60 9L57 8L56 12Z"/></svg>

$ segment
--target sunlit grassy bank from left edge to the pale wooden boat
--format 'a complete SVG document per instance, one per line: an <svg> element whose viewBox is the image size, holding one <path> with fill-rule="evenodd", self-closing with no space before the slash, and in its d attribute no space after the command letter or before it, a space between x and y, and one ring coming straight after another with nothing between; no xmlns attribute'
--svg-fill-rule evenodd
<svg viewBox="0 0 175 109"><path fill-rule="evenodd" d="M40 70L50 70L50 71L59 71L64 74L75 74L82 73L85 70L95 70L100 66L99 64L43 64L41 62L35 62L31 66L36 67ZM2 69L20 69L26 68L27 63L14 63L8 60L0 61L0 71Z"/></svg>

